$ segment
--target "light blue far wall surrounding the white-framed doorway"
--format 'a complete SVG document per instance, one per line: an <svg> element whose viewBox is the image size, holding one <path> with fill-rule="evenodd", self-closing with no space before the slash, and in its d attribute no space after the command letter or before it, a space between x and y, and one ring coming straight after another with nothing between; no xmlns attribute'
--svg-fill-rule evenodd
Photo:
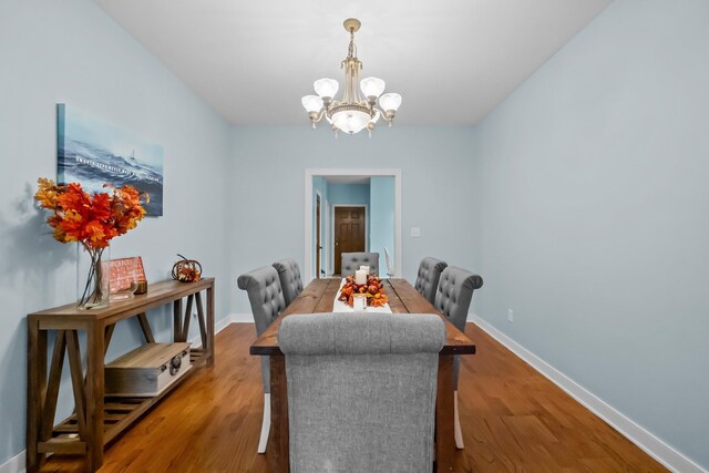
<svg viewBox="0 0 709 473"><path fill-rule="evenodd" d="M413 280L429 255L475 267L480 218L473 214L479 203L472 198L477 187L472 145L465 126L394 125L376 130L371 138L335 138L327 126L234 128L230 195L239 204L232 222L233 275L270 264L274 255L291 255L302 267L305 169L326 167L401 168L404 277ZM441 205L445 213L438 210ZM420 238L409 236L412 226L421 227ZM233 291L230 307L250 313L243 291Z"/></svg>

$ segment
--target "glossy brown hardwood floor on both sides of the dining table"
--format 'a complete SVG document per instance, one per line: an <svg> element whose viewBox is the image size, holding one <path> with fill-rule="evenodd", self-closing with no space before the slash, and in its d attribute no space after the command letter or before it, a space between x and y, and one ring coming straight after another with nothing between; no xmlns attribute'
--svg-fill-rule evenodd
<svg viewBox="0 0 709 473"><path fill-rule="evenodd" d="M463 357L460 472L667 471L473 323L477 353ZM216 366L195 373L105 452L109 472L267 473L256 453L263 412L260 364L248 354L254 326L216 338ZM42 472L78 472L54 455Z"/></svg>

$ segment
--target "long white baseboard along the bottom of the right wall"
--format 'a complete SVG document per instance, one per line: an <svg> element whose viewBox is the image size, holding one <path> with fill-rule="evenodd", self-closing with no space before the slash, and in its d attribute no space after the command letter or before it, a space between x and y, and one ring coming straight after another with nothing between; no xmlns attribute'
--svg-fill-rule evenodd
<svg viewBox="0 0 709 473"><path fill-rule="evenodd" d="M631 419L618 412L612 405L597 398L584 387L548 364L546 361L497 330L494 326L471 313L467 320L477 325L492 338L505 346L510 351L526 361L532 368L563 389L567 394L580 402L594 414L610 424L630 442L643 449L648 455L660 462L669 470L678 473L707 473L697 463L682 455L677 450L635 423Z"/></svg>

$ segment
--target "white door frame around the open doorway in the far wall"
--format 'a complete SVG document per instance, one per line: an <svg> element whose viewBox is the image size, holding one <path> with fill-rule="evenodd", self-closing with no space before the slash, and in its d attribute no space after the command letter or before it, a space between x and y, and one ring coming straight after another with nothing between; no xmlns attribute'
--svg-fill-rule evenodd
<svg viewBox="0 0 709 473"><path fill-rule="evenodd" d="M305 169L305 261L304 261L304 282L308 284L314 279L312 268L312 178L314 177L330 177L330 176L369 176L369 177L393 177L394 178L394 274L395 277L401 277L401 261L402 261L402 247L401 247L401 169L388 168L388 169L333 169L333 168L306 168ZM380 255L381 256L381 255Z"/></svg>

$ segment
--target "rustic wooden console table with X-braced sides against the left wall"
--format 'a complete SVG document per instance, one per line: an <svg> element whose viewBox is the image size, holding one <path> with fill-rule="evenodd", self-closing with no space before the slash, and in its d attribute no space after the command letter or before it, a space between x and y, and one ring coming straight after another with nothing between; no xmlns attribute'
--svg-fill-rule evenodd
<svg viewBox="0 0 709 473"><path fill-rule="evenodd" d="M205 290L206 313L202 300L202 291ZM183 306L184 298L186 304ZM191 351L193 369L156 397L104 397L104 356L115 323L135 318L145 341L154 343L146 312L171 302L174 341L186 341L193 304L196 306L202 348ZM194 368L214 364L214 278L197 282L169 280L152 284L147 294L111 302L103 309L79 310L72 304L30 313L27 326L27 471L37 472L48 453L71 453L84 454L85 470L93 472L103 463L103 448L107 442L187 379ZM56 339L48 373L47 339L50 330L56 333ZM79 330L86 333L85 377ZM64 353L69 358L75 410L69 419L54 425Z"/></svg>

